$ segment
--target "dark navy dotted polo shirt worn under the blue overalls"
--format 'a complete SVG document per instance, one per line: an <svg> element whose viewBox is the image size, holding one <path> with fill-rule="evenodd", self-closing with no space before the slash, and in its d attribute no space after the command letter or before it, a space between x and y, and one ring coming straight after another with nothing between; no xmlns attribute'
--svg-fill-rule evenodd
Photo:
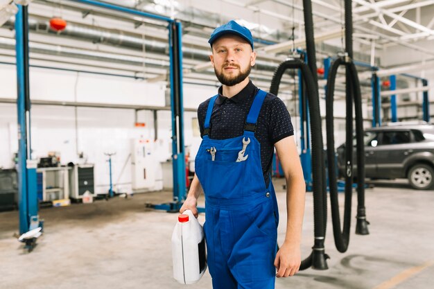
<svg viewBox="0 0 434 289"><path fill-rule="evenodd" d="M254 96L258 92L258 88L250 80L248 85L238 94L232 96L232 98L223 96L222 91L223 87L220 87L218 89L218 98L211 114L210 139L231 139L243 134L245 119L252 106ZM207 116L210 99L205 100L198 108L201 137L203 137L204 133L205 117ZM263 100L263 105L258 116L257 130L254 134L261 144L261 165L267 186L270 181L268 172L272 166L274 144L293 134L293 124L284 102L277 96L268 93Z"/></svg>

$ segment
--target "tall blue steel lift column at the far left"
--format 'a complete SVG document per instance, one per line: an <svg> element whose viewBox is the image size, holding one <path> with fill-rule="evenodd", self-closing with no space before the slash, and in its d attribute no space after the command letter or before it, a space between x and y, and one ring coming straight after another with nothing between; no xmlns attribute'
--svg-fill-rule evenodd
<svg viewBox="0 0 434 289"><path fill-rule="evenodd" d="M27 194L27 138L26 138L26 88L24 72L24 29L23 7L18 5L15 16L15 51L17 58L17 119L18 119L18 202L19 234L28 231L28 194Z"/></svg>

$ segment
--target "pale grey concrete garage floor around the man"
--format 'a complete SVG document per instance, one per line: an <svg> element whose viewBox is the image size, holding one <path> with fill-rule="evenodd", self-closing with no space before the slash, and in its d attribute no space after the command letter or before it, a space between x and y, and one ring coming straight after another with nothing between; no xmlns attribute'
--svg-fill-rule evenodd
<svg viewBox="0 0 434 289"><path fill-rule="evenodd" d="M282 184L282 179L275 180L281 208L279 243L286 222ZM172 278L171 234L177 214L144 207L146 202L167 200L170 192L42 209L45 233L31 253L12 237L18 228L17 211L0 213L0 288L186 288ZM356 195L353 207L354 217ZM329 219L329 270L309 269L277 279L276 288L434 288L434 191L415 191L405 182L377 183L366 191L366 207L370 235L355 235L352 218L349 249L340 254ZM307 193L303 258L312 245L313 202ZM211 288L209 274L188 288Z"/></svg>

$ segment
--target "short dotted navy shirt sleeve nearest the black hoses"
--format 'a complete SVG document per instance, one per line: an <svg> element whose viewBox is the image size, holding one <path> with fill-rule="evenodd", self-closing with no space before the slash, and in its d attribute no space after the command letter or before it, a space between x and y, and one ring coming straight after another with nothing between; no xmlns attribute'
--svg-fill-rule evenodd
<svg viewBox="0 0 434 289"><path fill-rule="evenodd" d="M294 135L293 123L285 103L277 96L270 101L270 122L268 125L270 141L274 144L281 139Z"/></svg>

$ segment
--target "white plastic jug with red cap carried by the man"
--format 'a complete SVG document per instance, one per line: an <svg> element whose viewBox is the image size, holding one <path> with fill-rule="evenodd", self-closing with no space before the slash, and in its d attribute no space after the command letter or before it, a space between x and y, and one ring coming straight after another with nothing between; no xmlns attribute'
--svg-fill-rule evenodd
<svg viewBox="0 0 434 289"><path fill-rule="evenodd" d="M207 270L205 235L202 225L190 210L178 216L172 234L173 278L182 284L193 284Z"/></svg>

